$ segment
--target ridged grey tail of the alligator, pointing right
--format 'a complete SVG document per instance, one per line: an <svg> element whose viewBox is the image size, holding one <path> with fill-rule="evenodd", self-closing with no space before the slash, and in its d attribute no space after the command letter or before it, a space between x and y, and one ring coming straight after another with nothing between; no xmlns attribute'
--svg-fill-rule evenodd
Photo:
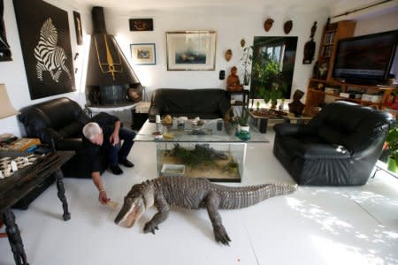
<svg viewBox="0 0 398 265"><path fill-rule="evenodd" d="M297 185L286 183L264 184L258 186L213 186L219 194L219 208L245 208L264 201L273 196L286 195L295 192Z"/></svg>

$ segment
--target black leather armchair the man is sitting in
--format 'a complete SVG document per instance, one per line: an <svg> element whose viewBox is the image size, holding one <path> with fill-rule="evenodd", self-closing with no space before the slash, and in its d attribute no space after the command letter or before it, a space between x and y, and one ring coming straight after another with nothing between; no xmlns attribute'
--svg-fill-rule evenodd
<svg viewBox="0 0 398 265"><path fill-rule="evenodd" d="M89 118L77 102L62 97L27 106L20 110L19 121L25 126L27 137L47 144L54 140L57 150L75 151L76 155L62 167L65 177L91 178L81 132ZM108 163L105 157L101 159L102 173Z"/></svg>

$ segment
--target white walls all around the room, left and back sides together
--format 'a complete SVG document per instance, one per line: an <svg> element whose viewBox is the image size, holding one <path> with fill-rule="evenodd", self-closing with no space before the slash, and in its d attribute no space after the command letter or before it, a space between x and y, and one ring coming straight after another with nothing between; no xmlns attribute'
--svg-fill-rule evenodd
<svg viewBox="0 0 398 265"><path fill-rule="evenodd" d="M87 55L85 54L85 46L88 44L89 39L87 33L91 32L91 10L88 9L87 6L75 4L73 1L47 0L46 2L68 11L73 56L76 52L80 54L80 57L73 62L74 67L78 68L78 72L75 73L76 87L78 90L73 93L47 97L40 100L32 101L30 99L12 0L4 0L4 24L7 31L7 39L11 45L13 60L11 62L0 63L0 83L5 83L11 102L16 109L59 96L69 96L82 105L85 102L83 61L85 55ZM72 11L80 12L84 32L83 35L85 37L84 43L86 45L76 45ZM225 70L227 76L233 65L240 65L239 60L242 54L240 46L241 38L244 38L248 44L251 44L254 36L284 36L286 34L283 32L283 24L288 19L292 19L294 22L293 30L288 36L298 36L292 93L296 88L305 91L313 64L302 64L303 47L305 42L308 42L310 39L310 27L312 27L314 21L318 21L318 30L315 35L317 57L322 27L325 25L325 19L329 15L326 10L311 10L309 8L290 8L288 10L279 8L272 10L271 8L256 9L248 7L237 10L227 6L212 7L210 9L195 8L172 11L132 11L128 17L107 9L105 9L104 12L108 32L117 37L119 45L121 49L124 50L127 58L131 57L131 43L156 43L157 64L146 66L134 65L134 72L136 72L142 84L148 87L149 95L151 91L158 87L226 87L226 81L218 79L218 72L220 70ZM128 19L133 18L154 19L154 31L130 32L128 28ZM263 24L264 20L267 18L272 18L275 22L272 29L268 33L265 33ZM392 25L397 25L397 23L392 22L392 19L394 20L394 15L388 17L381 16L369 23L378 25L378 28L374 30L385 31L386 28L390 29ZM362 22L358 22L357 31L359 32L366 32L366 30L369 30L371 27L365 24L362 24L362 26L361 23ZM216 70L194 72L167 71L165 32L205 29L215 30L218 33ZM233 58L230 62L226 62L224 58L226 49L233 50ZM239 68L239 72L242 74L241 68ZM17 136L24 134L23 130L19 128L16 117L0 120L0 128L0 133L14 133Z"/></svg>

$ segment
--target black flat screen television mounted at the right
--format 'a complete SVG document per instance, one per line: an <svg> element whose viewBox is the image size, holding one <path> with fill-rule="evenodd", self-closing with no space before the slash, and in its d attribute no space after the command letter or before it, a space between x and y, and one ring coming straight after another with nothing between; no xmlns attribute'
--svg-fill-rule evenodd
<svg viewBox="0 0 398 265"><path fill-rule="evenodd" d="M398 30L340 40L334 60L333 78L348 83L386 83L397 42Z"/></svg>

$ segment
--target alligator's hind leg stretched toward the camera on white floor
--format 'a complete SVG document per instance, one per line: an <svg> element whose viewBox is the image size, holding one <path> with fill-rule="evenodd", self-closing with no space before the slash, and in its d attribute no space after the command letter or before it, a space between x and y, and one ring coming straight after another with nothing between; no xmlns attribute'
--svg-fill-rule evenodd
<svg viewBox="0 0 398 265"><path fill-rule="evenodd" d="M207 208L207 213L209 214L211 224L213 225L214 237L217 242L221 242L224 245L229 246L228 234L226 233L226 228L223 225L221 216L218 213L219 206L219 196L216 192L211 192L205 198L205 206Z"/></svg>

